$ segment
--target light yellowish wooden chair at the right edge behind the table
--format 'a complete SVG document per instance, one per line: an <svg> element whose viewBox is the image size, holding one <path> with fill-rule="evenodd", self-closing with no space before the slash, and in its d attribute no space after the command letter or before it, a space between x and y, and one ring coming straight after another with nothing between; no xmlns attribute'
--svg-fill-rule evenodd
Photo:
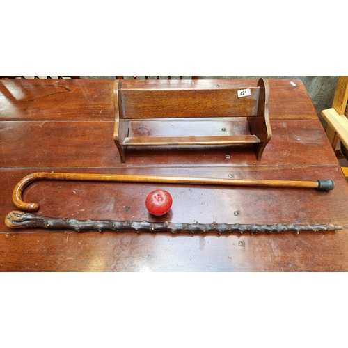
<svg viewBox="0 0 348 348"><path fill-rule="evenodd" d="M328 126L326 135L335 150L338 159L348 160L348 76L339 76L331 109L320 114ZM338 143L340 141L340 143ZM338 148L340 145L340 148ZM348 180L348 167L342 166L342 171Z"/></svg>

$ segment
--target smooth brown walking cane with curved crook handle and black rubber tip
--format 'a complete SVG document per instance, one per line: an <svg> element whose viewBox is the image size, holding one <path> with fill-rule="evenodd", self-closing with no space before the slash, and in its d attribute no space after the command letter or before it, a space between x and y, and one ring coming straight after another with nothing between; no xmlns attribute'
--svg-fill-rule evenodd
<svg viewBox="0 0 348 348"><path fill-rule="evenodd" d="M77 180L108 182L156 182L169 184L207 184L263 187L308 187L320 191L330 191L335 187L332 180L292 181L292 180L260 180L260 179L224 179L215 177L175 177L160 175L122 175L122 174L87 174L87 173L33 173L26 175L13 190L12 200L15 206L26 212L38 209L37 203L25 203L22 192L35 180Z"/></svg>

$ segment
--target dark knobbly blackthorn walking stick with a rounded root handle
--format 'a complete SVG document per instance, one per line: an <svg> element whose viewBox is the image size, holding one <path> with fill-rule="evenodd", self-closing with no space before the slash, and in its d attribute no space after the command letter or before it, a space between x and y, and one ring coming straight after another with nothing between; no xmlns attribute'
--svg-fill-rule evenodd
<svg viewBox="0 0 348 348"><path fill-rule="evenodd" d="M84 231L115 231L115 232L286 232L293 231L299 234L301 231L321 232L342 230L342 226L332 224L228 224L228 223L171 223L151 221L113 221L113 220L77 220L70 218L51 218L34 215L31 213L13 211L8 213L5 219L9 228L46 228L49 230L75 230Z"/></svg>

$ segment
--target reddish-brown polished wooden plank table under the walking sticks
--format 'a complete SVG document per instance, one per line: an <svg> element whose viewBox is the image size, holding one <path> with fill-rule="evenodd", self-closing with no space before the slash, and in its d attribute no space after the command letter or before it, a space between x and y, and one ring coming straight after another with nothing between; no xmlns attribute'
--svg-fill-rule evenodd
<svg viewBox="0 0 348 348"><path fill-rule="evenodd" d="M184 83L153 81L154 86ZM243 87L256 86L257 80L198 80L195 84L198 88L215 84ZM347 271L347 181L303 83L271 79L269 87L273 136L261 161L248 145L232 145L129 148L127 161L121 164L113 142L113 80L0 81L0 270ZM167 122L166 129L171 127ZM184 123L176 122L175 127L176 132L186 132ZM195 127L197 132L205 130L200 122ZM135 123L132 131L146 134L152 129ZM41 180L27 187L23 198L40 205L37 214L76 219L335 223L345 227L299 235L11 230L4 219L17 209L12 201L15 185L24 176L41 171L332 179L335 189L329 192ZM144 203L147 194L157 188L171 193L173 206L166 216L154 218Z"/></svg>

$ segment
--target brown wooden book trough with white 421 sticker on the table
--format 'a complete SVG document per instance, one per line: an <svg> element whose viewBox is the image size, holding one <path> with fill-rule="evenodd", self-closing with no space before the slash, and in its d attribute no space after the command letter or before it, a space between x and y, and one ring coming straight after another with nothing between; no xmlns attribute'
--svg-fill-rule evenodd
<svg viewBox="0 0 348 348"><path fill-rule="evenodd" d="M115 81L113 139L122 163L128 146L254 144L256 158L261 159L271 139L268 81L259 79L257 86L243 88L221 87L209 80L199 83ZM173 132L175 121L185 122L181 134ZM227 121L230 126L221 127ZM237 126L241 122L244 127ZM236 134L238 129L243 132Z"/></svg>

